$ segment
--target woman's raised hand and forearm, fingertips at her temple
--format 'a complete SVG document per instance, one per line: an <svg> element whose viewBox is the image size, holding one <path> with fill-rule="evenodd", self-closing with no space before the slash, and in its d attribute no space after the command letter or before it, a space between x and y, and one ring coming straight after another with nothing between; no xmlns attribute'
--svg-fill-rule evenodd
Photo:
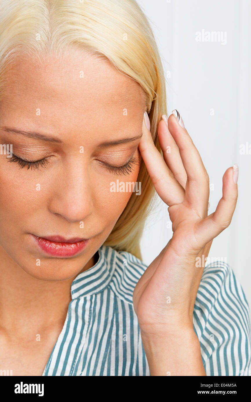
<svg viewBox="0 0 251 402"><path fill-rule="evenodd" d="M216 211L207 216L209 177L182 125L182 119L180 125L173 114L160 121L158 137L163 158L154 146L149 119L146 123L143 119L139 151L158 195L169 206L173 236L137 283L133 304L148 360L152 360L153 351L155 356L159 353L162 356L161 351L168 349L170 340L173 344L174 338L187 340L195 347L191 350L193 357L197 356L195 366L199 369L198 373L190 375L205 375L193 331L193 308L203 273L203 267L196 267L195 262L198 256L207 257L212 240L231 222L238 196L238 166L224 173L222 198ZM167 147L170 152L166 152ZM158 343L159 347L153 346ZM151 362L151 367L151 375L157 375L156 361Z"/></svg>

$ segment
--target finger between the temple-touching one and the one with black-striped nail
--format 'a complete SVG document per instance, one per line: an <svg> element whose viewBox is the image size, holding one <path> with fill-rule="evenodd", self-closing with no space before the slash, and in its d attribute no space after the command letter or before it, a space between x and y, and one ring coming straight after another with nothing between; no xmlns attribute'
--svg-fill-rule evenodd
<svg viewBox="0 0 251 402"><path fill-rule="evenodd" d="M168 130L168 119L166 115L162 116L162 120L158 125L158 137L163 152L163 157L168 168L171 170L176 180L185 189L187 183L187 173L180 158L178 146Z"/></svg>

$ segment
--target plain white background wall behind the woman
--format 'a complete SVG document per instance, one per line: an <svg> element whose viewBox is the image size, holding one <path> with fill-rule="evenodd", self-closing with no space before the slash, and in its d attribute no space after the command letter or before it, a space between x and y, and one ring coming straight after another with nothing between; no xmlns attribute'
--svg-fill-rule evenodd
<svg viewBox="0 0 251 402"><path fill-rule="evenodd" d="M251 307L251 0L138 0L154 31L166 78L168 116L177 109L210 176L212 213L222 176L239 165L239 198L230 226L214 239L209 257L227 258ZM221 42L197 42L195 32L226 32ZM170 73L168 73L170 72ZM214 115L211 109L214 109ZM251 152L251 150L250 150ZM143 262L172 236L167 206L152 212L141 241Z"/></svg>

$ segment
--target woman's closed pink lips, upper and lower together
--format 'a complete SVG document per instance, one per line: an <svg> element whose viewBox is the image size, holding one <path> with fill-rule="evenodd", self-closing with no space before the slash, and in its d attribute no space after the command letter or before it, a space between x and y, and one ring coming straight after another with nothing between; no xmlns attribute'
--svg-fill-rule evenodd
<svg viewBox="0 0 251 402"><path fill-rule="evenodd" d="M79 254L89 242L87 240L81 240L81 242L76 243L61 243L61 242L51 242L50 240L31 235L38 247L51 256L56 257L72 257Z"/></svg>

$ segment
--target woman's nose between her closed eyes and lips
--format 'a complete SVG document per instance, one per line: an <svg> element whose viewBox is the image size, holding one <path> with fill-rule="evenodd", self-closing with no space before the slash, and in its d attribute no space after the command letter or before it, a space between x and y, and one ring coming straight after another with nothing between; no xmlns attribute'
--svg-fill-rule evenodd
<svg viewBox="0 0 251 402"><path fill-rule="evenodd" d="M81 160L68 162L60 170L54 182L49 209L68 222L81 222L93 213L88 166Z"/></svg>

